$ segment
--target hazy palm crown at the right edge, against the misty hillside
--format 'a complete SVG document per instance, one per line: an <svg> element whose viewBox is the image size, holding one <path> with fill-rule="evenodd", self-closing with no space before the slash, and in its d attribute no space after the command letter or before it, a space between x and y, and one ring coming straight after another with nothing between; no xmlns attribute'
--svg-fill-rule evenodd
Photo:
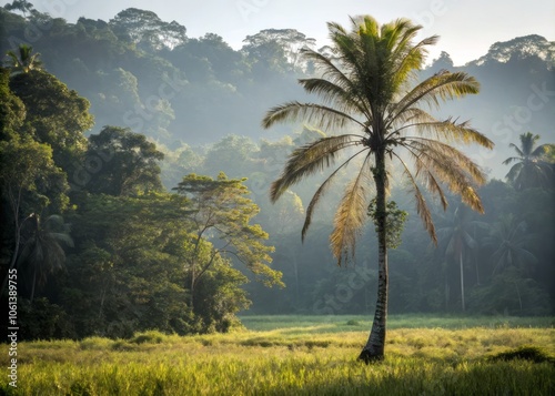
<svg viewBox="0 0 555 396"><path fill-rule="evenodd" d="M511 143L517 156L503 161L504 165L516 162L505 176L518 191L529 187L545 187L553 183L553 164L547 161L555 144L542 144L535 148L539 135L526 132L519 135L521 146Z"/></svg>

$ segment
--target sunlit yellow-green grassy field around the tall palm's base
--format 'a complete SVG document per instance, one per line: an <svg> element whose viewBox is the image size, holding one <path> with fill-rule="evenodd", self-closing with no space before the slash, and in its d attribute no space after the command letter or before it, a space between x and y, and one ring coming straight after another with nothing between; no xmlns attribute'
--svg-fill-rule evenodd
<svg viewBox="0 0 555 396"><path fill-rule="evenodd" d="M392 316L386 359L356 361L361 316L244 316L245 329L18 344L0 395L555 395L555 318ZM518 357L518 358L516 358Z"/></svg>

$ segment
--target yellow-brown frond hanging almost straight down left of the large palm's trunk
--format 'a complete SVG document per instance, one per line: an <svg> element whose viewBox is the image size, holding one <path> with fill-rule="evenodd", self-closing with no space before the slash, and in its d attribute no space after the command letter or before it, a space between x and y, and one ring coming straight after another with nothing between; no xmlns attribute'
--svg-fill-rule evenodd
<svg viewBox="0 0 555 396"><path fill-rule="evenodd" d="M367 155L356 177L349 183L335 213L330 243L340 266L354 256L356 236L367 219L367 196L372 185L370 159Z"/></svg>

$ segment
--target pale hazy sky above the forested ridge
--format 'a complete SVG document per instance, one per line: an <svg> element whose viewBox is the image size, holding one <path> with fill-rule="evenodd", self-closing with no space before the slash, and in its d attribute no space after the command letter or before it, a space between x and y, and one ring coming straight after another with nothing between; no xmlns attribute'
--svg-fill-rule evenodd
<svg viewBox="0 0 555 396"><path fill-rule="evenodd" d="M430 59L441 51L455 65L484 55L496 41L539 34L555 40L554 0L31 0L52 17L75 22L79 17L108 21L127 8L154 11L162 20L175 20L198 38L220 34L235 49L263 29L296 29L325 44L325 22L349 27L349 16L371 14L384 23L400 17L424 27L422 37L441 35Z"/></svg>

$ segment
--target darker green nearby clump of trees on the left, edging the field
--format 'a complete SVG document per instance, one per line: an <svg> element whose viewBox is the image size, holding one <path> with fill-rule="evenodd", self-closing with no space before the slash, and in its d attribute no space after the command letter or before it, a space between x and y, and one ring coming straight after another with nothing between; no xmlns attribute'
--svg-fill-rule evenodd
<svg viewBox="0 0 555 396"><path fill-rule="evenodd" d="M250 304L232 261L282 285L244 180L165 192L155 144L119 126L84 138L89 102L30 54L0 69L1 293L17 290L22 338L224 332Z"/></svg>

